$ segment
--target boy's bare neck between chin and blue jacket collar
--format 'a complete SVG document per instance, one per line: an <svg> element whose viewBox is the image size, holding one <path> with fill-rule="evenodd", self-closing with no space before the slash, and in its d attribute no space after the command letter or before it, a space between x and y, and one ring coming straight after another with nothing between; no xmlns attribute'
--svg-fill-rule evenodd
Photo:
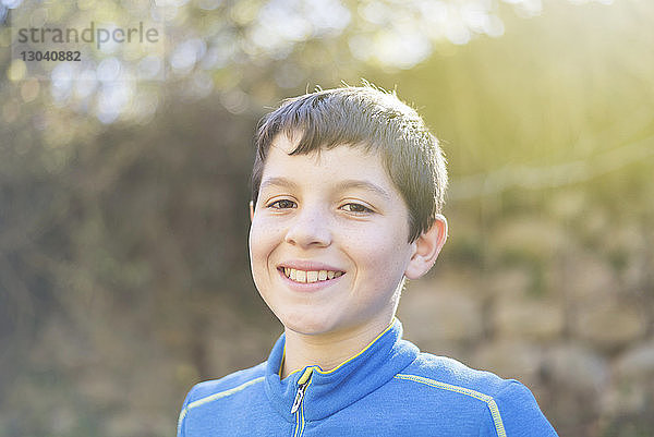
<svg viewBox="0 0 654 437"><path fill-rule="evenodd" d="M395 316L390 320L326 335L305 335L287 328L281 379L311 365L317 365L323 371L337 367L375 340L393 318Z"/></svg>

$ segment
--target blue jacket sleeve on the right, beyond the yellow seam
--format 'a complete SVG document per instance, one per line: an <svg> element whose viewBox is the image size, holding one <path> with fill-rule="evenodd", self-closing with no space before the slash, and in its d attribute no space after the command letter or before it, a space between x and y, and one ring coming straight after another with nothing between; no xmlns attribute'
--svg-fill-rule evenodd
<svg viewBox="0 0 654 437"><path fill-rule="evenodd" d="M493 416L493 411L488 410L488 420L480 429L480 437L558 437L532 392L521 383L507 381L494 397L494 402L497 413Z"/></svg>

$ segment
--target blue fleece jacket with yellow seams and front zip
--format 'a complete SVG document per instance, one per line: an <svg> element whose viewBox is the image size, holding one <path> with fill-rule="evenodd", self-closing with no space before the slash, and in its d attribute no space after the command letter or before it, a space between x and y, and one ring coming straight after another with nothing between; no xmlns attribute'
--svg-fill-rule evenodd
<svg viewBox="0 0 654 437"><path fill-rule="evenodd" d="M401 336L396 319L338 367L280 379L282 335L268 361L193 387L178 437L557 435L522 384L421 353Z"/></svg>

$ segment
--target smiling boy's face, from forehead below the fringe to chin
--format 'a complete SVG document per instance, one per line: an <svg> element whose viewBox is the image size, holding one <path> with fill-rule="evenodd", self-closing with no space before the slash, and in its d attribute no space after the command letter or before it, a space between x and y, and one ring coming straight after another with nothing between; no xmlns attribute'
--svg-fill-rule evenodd
<svg viewBox="0 0 654 437"><path fill-rule="evenodd" d="M256 288L296 332L383 329L415 252L407 206L376 154L289 156L294 146L278 135L264 168L250 229Z"/></svg>

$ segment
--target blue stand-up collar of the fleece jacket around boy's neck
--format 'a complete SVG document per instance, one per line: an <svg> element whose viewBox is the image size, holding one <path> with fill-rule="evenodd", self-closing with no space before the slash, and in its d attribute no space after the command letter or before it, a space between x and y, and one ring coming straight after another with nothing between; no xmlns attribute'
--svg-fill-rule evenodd
<svg viewBox="0 0 654 437"><path fill-rule="evenodd" d="M415 345L402 340L402 324L396 318L360 353L332 371L307 366L280 380L284 340L282 333L270 352L266 364L265 389L271 406L289 422L294 422L291 408L299 380L308 367L313 367L313 372L303 400L304 417L307 421L318 421L382 387L411 364L419 353Z"/></svg>

